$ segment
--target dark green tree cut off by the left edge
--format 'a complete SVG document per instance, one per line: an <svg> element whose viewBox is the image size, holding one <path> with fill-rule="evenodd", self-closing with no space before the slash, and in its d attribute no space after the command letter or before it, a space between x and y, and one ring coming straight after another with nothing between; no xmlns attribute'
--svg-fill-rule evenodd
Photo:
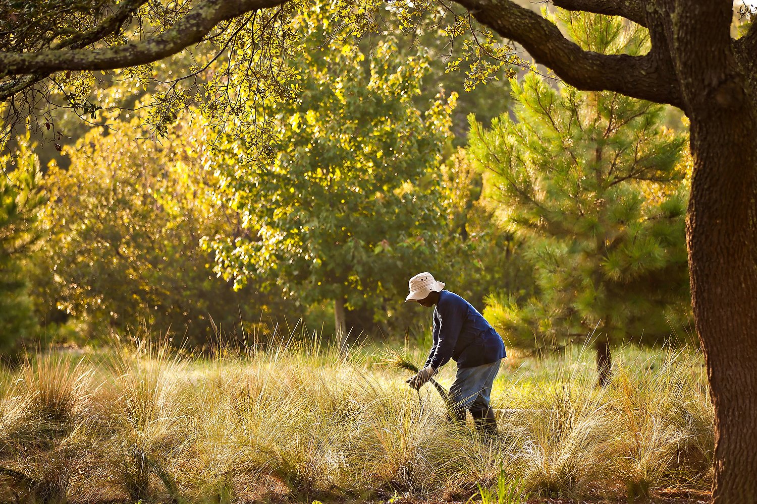
<svg viewBox="0 0 757 504"><path fill-rule="evenodd" d="M26 259L39 242L39 212L47 198L29 135L0 157L0 356L13 358L36 329Z"/></svg>

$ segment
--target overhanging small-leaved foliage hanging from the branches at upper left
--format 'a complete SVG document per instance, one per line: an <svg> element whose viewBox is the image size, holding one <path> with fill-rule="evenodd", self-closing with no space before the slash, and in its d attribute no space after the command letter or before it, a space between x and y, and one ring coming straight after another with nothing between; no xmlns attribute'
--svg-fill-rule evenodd
<svg viewBox="0 0 757 504"><path fill-rule="evenodd" d="M299 99L303 70L299 56L304 52L317 54L325 47L341 51L343 45L357 45L361 38L375 34L406 32L416 37L432 32L447 39L452 57L447 70L463 70L466 88L491 82L502 72L512 75L508 65L526 64L463 8L438 2L296 0L272 8L238 2L234 7L241 9L238 13L232 12L231 5L214 6L207 0L57 3L11 8L8 16L2 16L5 31L0 32L0 47L30 57L50 49L86 48L96 59L95 51L107 53L129 47L135 52L138 47L151 47L145 45L150 41L156 45L161 40L172 47L182 37L194 42L188 42L190 47L183 51L188 57L173 58L173 73L164 72L164 63L157 63L168 54L129 64L126 51L123 64L116 58L102 71L51 70L0 77L0 100L4 100L0 107L6 123L17 124L32 116L32 128L51 141L51 135L60 136L55 133L60 131L57 123L61 110L73 110L87 122L97 122L101 108L131 108L128 102L103 100L96 88L133 78L139 80L140 88L151 92L151 100L144 107L148 110L146 124L154 134L166 135L168 126L182 111L197 107L204 122L217 133L244 136L265 150L276 137L272 129L275 120L270 117L276 115L276 104ZM250 4L248 10L242 4ZM231 17L221 16L217 23L207 26L209 31L200 39L195 41L195 32L181 31L182 23L189 18L210 19L213 12L224 9ZM39 20L44 20L44 29L35 31ZM172 54L184 49L179 45ZM256 107L244 113L250 102Z"/></svg>

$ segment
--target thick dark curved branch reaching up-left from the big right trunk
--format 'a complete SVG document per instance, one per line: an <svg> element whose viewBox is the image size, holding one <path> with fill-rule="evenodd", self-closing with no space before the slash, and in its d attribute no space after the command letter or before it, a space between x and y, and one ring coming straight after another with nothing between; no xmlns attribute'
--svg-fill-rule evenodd
<svg viewBox="0 0 757 504"><path fill-rule="evenodd" d="M562 35L549 20L507 0L456 0L482 24L505 39L519 42L569 85L584 91L618 91L642 100L682 107L674 74L654 53L646 56L584 51ZM618 3L618 2L606 2Z"/></svg>

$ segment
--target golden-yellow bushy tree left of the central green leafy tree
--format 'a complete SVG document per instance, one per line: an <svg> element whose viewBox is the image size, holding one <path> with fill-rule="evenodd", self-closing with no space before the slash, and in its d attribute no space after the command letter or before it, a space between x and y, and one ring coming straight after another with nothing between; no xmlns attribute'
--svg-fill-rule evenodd
<svg viewBox="0 0 757 504"><path fill-rule="evenodd" d="M179 125L161 144L132 141L135 129L138 119L114 122L108 135L95 128L68 152L68 171L48 172L48 274L38 286L47 318L64 311L95 336L144 319L177 343L205 345L217 342L217 329L241 338L242 321L293 309L262 283L234 292L213 274L201 237L242 230L204 168L203 131Z"/></svg>

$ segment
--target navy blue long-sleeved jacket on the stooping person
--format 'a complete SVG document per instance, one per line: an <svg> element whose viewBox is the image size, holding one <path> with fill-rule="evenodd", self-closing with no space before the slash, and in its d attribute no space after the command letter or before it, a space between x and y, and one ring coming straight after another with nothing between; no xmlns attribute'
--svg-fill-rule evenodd
<svg viewBox="0 0 757 504"><path fill-rule="evenodd" d="M453 292L439 292L434 309L434 346L426 366L438 369L452 358L457 367L477 367L505 356L502 338L478 310Z"/></svg>

